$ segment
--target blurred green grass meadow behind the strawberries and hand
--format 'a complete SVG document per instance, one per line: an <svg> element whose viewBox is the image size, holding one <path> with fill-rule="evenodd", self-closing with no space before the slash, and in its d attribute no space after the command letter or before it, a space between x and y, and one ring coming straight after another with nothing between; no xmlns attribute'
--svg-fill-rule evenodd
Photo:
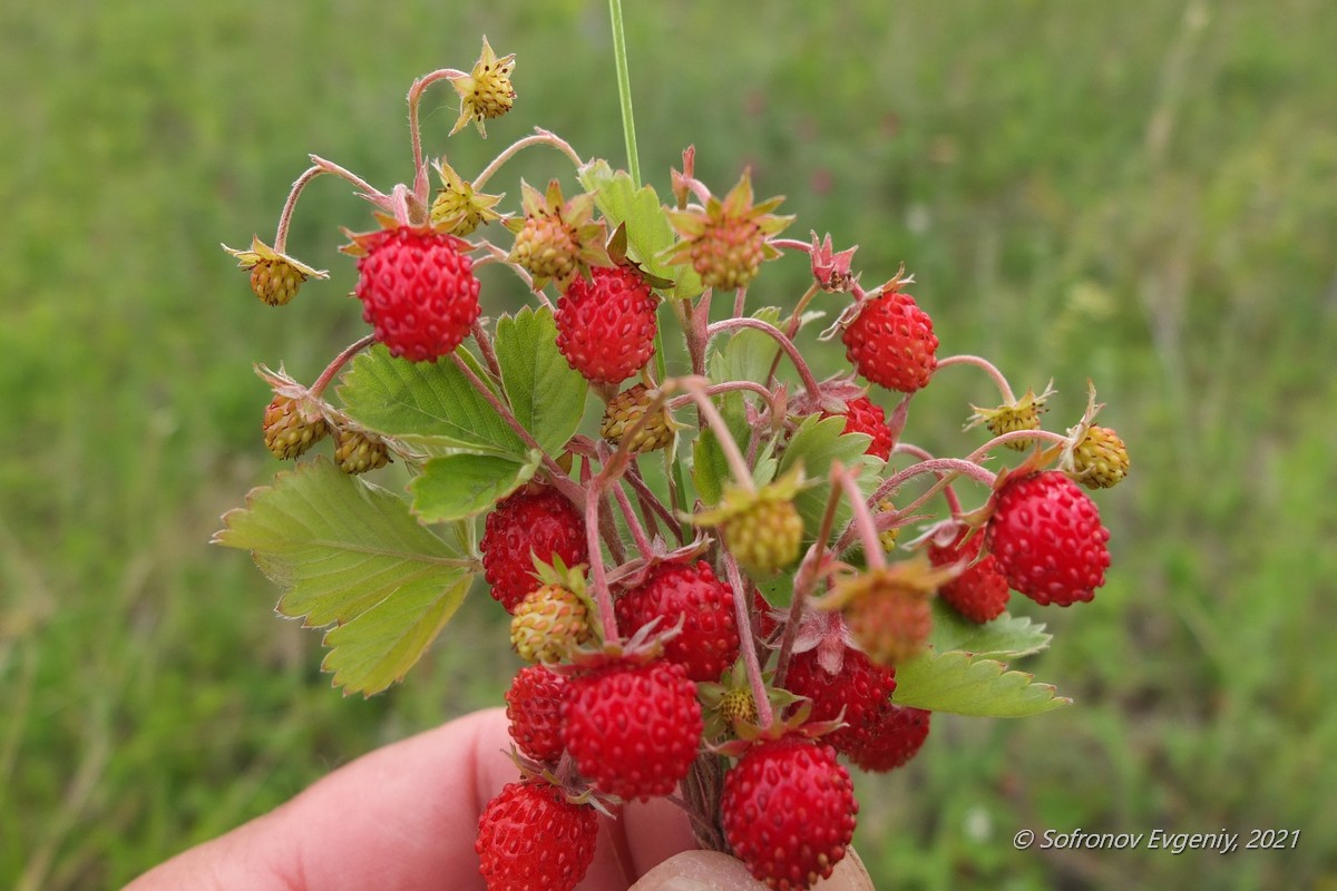
<svg viewBox="0 0 1337 891"><path fill-rule="evenodd" d="M342 699L314 635L271 618L249 561L207 546L269 478L253 362L313 377L362 331L337 226L303 199L294 252L332 270L281 313L218 250L267 236L306 152L406 178L410 80L487 33L516 112L428 150L477 168L539 124L620 163L607 11L76 1L0 9L0 886L123 883L333 764L499 700L511 657L472 600L394 691ZM880 887L1332 887L1337 827L1337 7L714 4L627 11L642 168L689 143L865 283L906 262L943 351L1095 377L1134 476L1099 496L1114 569L1027 664L1076 705L939 719L910 768L861 781ZM560 170L524 156L504 180ZM802 287L777 264L754 299ZM765 283L770 279L769 283ZM500 282L501 279L496 279ZM519 294L489 297L489 310ZM810 347L812 345L805 345ZM944 373L910 435L944 453L987 382ZM1055 422L1060 423L1060 422ZM495 632L493 632L495 636ZM489 663L491 660L491 663ZM480 667L495 665L495 671ZM1293 851L1016 852L1019 828L1302 830Z"/></svg>

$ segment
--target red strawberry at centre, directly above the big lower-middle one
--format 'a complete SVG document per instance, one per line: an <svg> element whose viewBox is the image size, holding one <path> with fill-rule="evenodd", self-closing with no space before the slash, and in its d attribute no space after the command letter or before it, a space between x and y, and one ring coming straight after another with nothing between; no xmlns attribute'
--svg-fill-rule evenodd
<svg viewBox="0 0 1337 891"><path fill-rule="evenodd" d="M694 681L717 681L738 659L734 593L715 578L710 564L660 564L639 588L618 600L618 627L631 635L659 618L658 631L682 620L682 632L664 644L664 659L687 669Z"/></svg>

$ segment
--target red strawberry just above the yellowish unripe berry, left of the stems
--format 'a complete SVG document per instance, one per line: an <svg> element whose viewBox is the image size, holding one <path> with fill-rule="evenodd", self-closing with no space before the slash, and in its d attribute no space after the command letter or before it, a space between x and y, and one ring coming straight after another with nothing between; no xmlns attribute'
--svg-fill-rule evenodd
<svg viewBox="0 0 1337 891"><path fill-rule="evenodd" d="M547 564L558 556L568 566L590 557L584 520L556 489L520 489L499 501L483 524L479 550L492 597L511 613L539 588L532 556Z"/></svg>

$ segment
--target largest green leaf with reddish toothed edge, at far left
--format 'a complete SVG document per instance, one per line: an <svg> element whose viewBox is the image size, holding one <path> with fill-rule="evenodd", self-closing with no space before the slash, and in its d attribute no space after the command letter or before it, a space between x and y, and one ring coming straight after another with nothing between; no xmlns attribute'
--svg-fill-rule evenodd
<svg viewBox="0 0 1337 891"><path fill-rule="evenodd" d="M420 525L404 498L325 458L254 489L245 508L223 516L214 542L250 550L283 589L278 612L305 616L308 628L350 629L358 617L373 616L357 625L362 631L326 635L328 644L349 648L348 661L332 653L330 664L342 672L336 683L365 695L402 677L459 606L477 568ZM376 648L382 655L369 661Z"/></svg>

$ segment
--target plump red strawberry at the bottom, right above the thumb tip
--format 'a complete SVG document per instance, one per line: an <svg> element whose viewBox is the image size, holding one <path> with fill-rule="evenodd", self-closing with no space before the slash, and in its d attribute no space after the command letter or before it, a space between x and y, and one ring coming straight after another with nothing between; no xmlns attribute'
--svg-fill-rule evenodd
<svg viewBox="0 0 1337 891"><path fill-rule="evenodd" d="M719 808L734 855L789 891L830 876L854 836L858 801L836 749L783 736L754 744L725 773Z"/></svg>

